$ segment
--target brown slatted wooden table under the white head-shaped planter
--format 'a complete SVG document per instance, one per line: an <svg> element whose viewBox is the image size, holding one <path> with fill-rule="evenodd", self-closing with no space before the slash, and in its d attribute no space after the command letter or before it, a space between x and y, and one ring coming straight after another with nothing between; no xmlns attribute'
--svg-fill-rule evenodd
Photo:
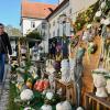
<svg viewBox="0 0 110 110"><path fill-rule="evenodd" d="M95 94L86 94L86 110L110 110L110 96L99 98Z"/></svg>

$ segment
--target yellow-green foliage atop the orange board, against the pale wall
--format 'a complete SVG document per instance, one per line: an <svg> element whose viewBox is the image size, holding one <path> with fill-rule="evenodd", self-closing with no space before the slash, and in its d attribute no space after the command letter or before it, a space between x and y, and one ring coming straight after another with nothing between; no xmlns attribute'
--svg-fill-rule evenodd
<svg viewBox="0 0 110 110"><path fill-rule="evenodd" d="M76 31L80 31L86 23L94 21L95 13L99 8L99 1L89 7L86 11L78 14L75 22Z"/></svg>

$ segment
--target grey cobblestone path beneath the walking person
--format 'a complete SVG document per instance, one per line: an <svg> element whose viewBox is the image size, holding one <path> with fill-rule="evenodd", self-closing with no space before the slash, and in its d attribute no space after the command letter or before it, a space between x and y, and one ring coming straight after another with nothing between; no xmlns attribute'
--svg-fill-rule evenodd
<svg viewBox="0 0 110 110"><path fill-rule="evenodd" d="M0 85L0 110L7 110L8 99L9 99L9 81L10 81L10 66L6 65L4 72L4 85Z"/></svg>

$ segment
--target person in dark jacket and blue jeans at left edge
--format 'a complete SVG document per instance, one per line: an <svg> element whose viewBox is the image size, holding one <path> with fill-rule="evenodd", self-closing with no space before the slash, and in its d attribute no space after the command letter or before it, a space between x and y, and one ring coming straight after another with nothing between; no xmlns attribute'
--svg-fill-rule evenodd
<svg viewBox="0 0 110 110"><path fill-rule="evenodd" d="M6 55L12 54L11 44L8 34L4 32L4 25L0 23L0 82L3 81Z"/></svg>

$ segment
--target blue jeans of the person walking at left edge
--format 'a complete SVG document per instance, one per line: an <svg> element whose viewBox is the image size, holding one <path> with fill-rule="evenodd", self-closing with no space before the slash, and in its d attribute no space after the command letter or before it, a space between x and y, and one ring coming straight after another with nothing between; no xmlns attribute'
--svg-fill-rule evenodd
<svg viewBox="0 0 110 110"><path fill-rule="evenodd" d="M6 54L0 54L0 81L3 80Z"/></svg>

